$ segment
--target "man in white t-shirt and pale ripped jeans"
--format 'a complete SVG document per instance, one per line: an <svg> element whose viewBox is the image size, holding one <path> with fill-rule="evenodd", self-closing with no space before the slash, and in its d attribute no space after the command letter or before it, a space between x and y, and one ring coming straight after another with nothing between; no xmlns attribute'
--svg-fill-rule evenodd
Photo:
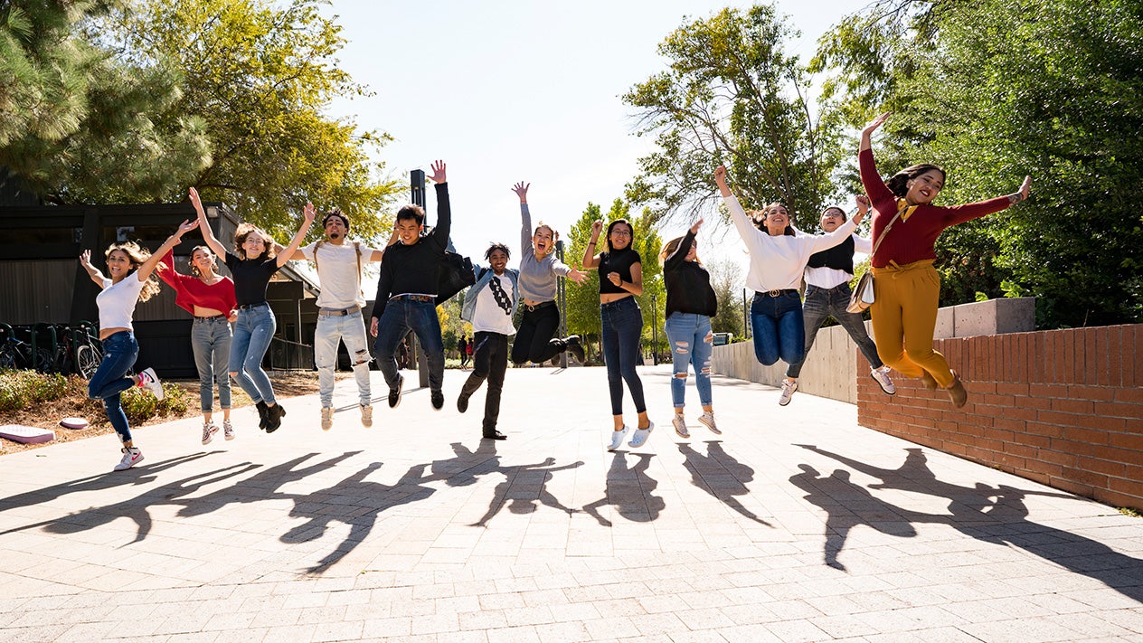
<svg viewBox="0 0 1143 643"><path fill-rule="evenodd" d="M353 365L361 404L361 423L373 426L373 394L369 389L369 346L361 307L361 267L381 261L384 248L350 241L350 219L339 209L326 213L321 221L326 238L298 248L291 260L309 260L318 269L321 294L318 295L318 327L313 333L313 362L318 366L321 398L321 429L334 424L334 371L337 368L337 342L345 343ZM392 239L390 240L392 243Z"/></svg>

